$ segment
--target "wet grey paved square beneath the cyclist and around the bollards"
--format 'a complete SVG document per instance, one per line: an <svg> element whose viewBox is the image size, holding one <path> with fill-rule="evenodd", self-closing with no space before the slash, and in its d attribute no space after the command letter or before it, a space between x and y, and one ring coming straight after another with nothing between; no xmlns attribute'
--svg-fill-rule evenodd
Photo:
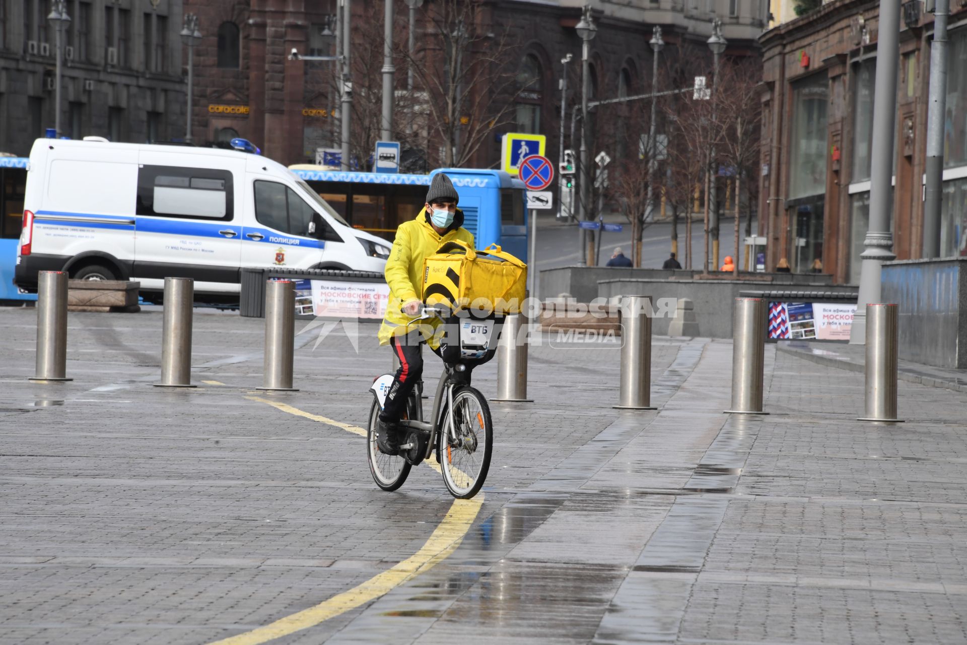
<svg viewBox="0 0 967 645"><path fill-rule="evenodd" d="M244 634L398 570L453 512L428 467L372 484L375 327L358 354L297 337L300 391L256 395L262 321L197 310L191 391L151 387L158 313L72 313L62 384L25 378L34 321L0 308L4 645L967 641L967 394L903 382L907 422L864 424L862 374L771 345L771 414L725 415L731 343L657 337L659 410L630 412L617 345L533 348L455 549L266 641ZM495 363L474 381L493 396Z"/></svg>

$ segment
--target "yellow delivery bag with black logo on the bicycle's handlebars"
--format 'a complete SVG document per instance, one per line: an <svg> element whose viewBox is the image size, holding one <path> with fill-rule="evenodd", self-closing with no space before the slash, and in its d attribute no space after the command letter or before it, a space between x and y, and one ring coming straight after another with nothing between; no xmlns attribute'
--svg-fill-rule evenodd
<svg viewBox="0 0 967 645"><path fill-rule="evenodd" d="M424 261L427 305L519 313L526 285L527 265L497 245L474 250L453 240Z"/></svg>

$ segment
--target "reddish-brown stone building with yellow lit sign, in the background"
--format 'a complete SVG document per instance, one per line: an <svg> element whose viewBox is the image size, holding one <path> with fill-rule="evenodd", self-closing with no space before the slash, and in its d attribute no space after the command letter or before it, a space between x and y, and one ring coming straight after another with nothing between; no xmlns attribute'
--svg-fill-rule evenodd
<svg viewBox="0 0 967 645"><path fill-rule="evenodd" d="M192 124L196 142L239 135L286 164L312 161L316 148L338 147L339 125L333 114L339 97L332 83L325 82L332 64L288 59L293 48L302 54L333 53L335 38L328 34L334 26L335 0L185 0L185 5L186 11L199 16L203 34L195 48ZM519 45L518 60L508 64L519 66L527 83L514 105L515 123L504 130L546 134L547 150L555 158L560 61L567 53L574 56L569 103L573 105L580 96L581 41L574 25L580 19L581 5L577 0L484 2L482 19L491 31L510 29ZM593 6L599 32L591 43L592 93L601 98L650 88L648 41L654 25L662 26L669 44L665 51L674 55L675 45L686 41L705 48L711 21L718 17L730 44L726 55L758 55L756 39L769 15L769 0L631 0ZM371 48L371 33L378 40L382 7L375 0L352 2L353 56ZM407 12L406 4L396 0L397 43L405 42L408 34ZM425 20L418 17L416 29L419 38L427 29ZM405 68L399 63L396 67L396 88L402 90ZM359 86L362 79L354 78L354 83ZM375 86L378 84L376 79ZM360 109L358 104L356 109ZM498 135L496 132L484 142L474 165L486 167L499 160Z"/></svg>

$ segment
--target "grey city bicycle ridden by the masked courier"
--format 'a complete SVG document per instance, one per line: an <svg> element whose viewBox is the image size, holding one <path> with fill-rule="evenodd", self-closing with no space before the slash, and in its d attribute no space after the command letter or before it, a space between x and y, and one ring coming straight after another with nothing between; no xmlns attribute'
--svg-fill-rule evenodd
<svg viewBox="0 0 967 645"><path fill-rule="evenodd" d="M373 401L366 429L366 459L376 485L392 491L403 485L413 466L436 451L447 489L454 497L469 499L484 485L493 451L490 407L486 397L471 387L470 376L474 367L484 365L496 353L495 338L503 317L493 313L479 316L468 310L454 314L443 306L424 306L409 324L431 318L439 318L446 331L437 352L443 359L444 371L436 386L429 421L424 419L421 380L407 398L405 418L397 426L404 437L400 453L380 452L376 445L376 421L394 374L376 377L369 389ZM451 339L456 342L449 342Z"/></svg>

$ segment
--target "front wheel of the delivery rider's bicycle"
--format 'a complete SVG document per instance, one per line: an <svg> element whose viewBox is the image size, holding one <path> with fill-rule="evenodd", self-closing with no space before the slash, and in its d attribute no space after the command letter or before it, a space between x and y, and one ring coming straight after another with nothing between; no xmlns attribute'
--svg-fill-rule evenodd
<svg viewBox="0 0 967 645"><path fill-rule="evenodd" d="M447 426L444 410L440 437L443 481L454 497L469 499L484 485L493 451L490 406L480 391L464 387L454 392L454 429Z"/></svg>

